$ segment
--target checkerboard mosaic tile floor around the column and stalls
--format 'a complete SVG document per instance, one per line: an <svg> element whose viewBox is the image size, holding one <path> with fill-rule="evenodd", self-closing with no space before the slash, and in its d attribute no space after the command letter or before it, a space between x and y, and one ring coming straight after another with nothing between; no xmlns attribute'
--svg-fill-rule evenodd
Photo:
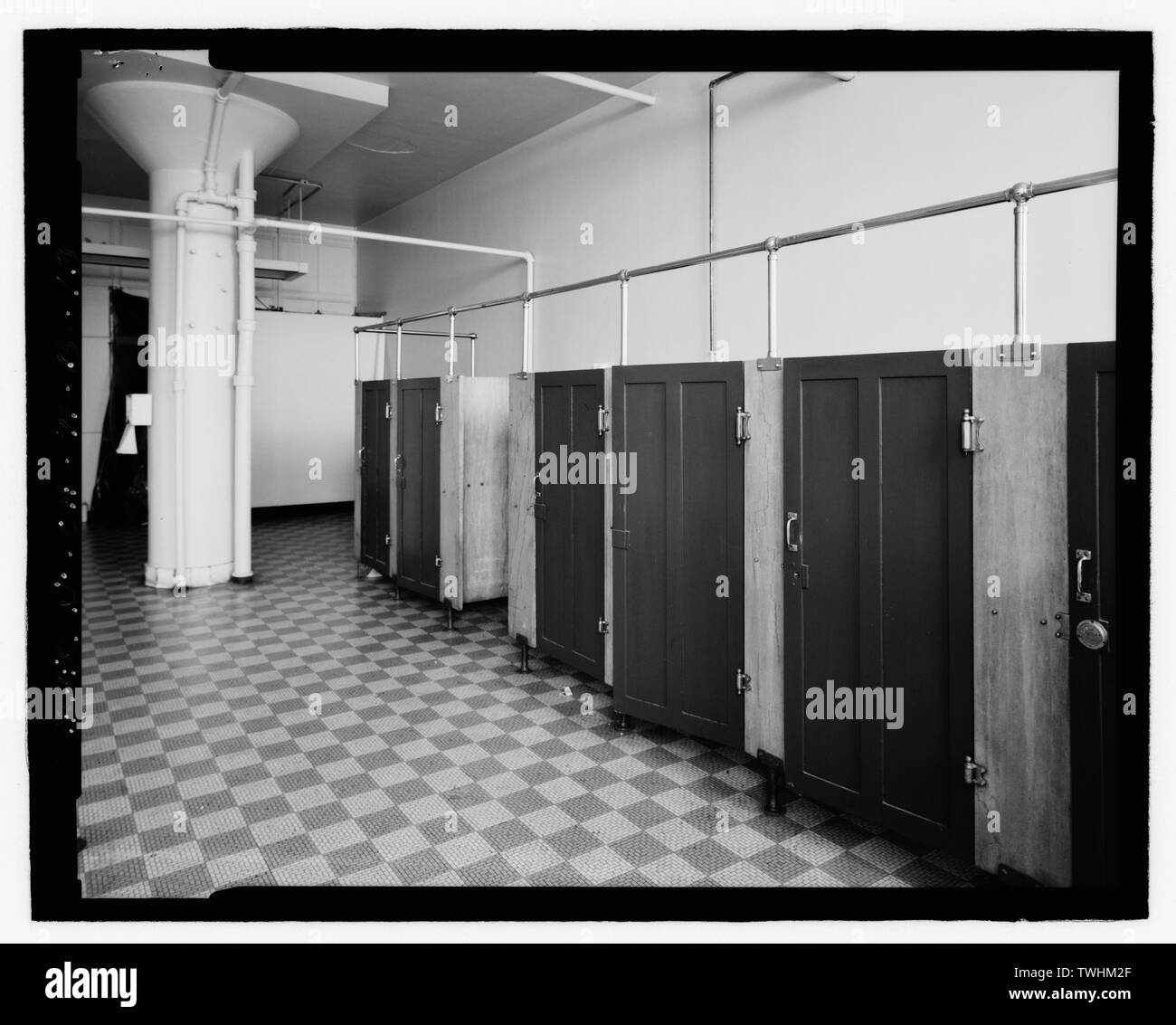
<svg viewBox="0 0 1176 1025"><path fill-rule="evenodd" d="M741 751L619 732L602 684L517 671L503 602L450 634L435 603L358 580L349 514L256 524L252 588L161 595L145 552L142 530L87 528L88 897L988 880L803 798L764 816Z"/></svg>

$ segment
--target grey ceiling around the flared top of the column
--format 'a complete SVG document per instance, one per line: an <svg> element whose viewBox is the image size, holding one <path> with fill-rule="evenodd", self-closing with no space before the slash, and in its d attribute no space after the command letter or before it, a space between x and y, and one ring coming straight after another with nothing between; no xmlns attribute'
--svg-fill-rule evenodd
<svg viewBox="0 0 1176 1025"><path fill-rule="evenodd" d="M654 72L577 74L632 87ZM79 98L100 81L143 76L215 83L223 72L191 61L187 54L86 52ZM321 182L322 190L305 201L302 213L323 223L362 225L597 103L628 102L529 72L322 74L321 82L313 81L318 74L298 78L314 86L298 92L299 112L278 95L280 89L289 95L288 81L247 74L239 89L287 109L299 121L299 142L267 170ZM373 87L387 88L386 107L373 101L373 95L383 95L382 88ZM456 128L445 123L449 106L457 110ZM78 159L83 192L147 199L147 174L80 102ZM290 215L299 216L298 189L283 199L287 188L288 183L260 179L259 214L279 214L293 199Z"/></svg>

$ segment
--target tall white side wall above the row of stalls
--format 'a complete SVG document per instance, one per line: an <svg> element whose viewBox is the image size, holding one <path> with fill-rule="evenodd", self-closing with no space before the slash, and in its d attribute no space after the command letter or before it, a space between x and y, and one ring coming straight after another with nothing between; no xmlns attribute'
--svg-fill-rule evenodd
<svg viewBox="0 0 1176 1025"><path fill-rule="evenodd" d="M536 288L706 252L707 82L666 73L646 108L609 100L363 227L530 249ZM1044 72L750 73L719 89L717 248L1114 167L1117 75ZM1001 126L989 127L990 107ZM460 129L454 129L460 130ZM1029 329L1045 342L1114 337L1115 196L1107 185L1030 209ZM594 243L581 244L592 223ZM1010 205L783 250L784 355L940 348L1011 333ZM762 254L716 268L716 337L731 359L767 344ZM389 316L519 293L519 263L360 243L359 302ZM616 362L613 286L535 303L535 369ZM479 370L517 369L519 307L467 314ZM427 327L443 327L435 321ZM706 359L704 267L634 281L634 363ZM432 364L429 364L432 366ZM414 357L405 374L436 373Z"/></svg>

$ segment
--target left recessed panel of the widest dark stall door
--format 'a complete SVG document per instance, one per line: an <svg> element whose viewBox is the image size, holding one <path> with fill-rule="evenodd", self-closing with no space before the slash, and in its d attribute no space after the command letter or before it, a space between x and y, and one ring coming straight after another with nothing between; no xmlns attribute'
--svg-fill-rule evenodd
<svg viewBox="0 0 1176 1025"><path fill-rule="evenodd" d="M784 598L793 614L786 617L784 650L803 686L790 689L786 699L788 775L806 777L814 796L837 797L854 808L861 791L861 724L809 718L806 708L811 688L823 695L830 686L856 686L860 679L861 491L853 478L853 461L862 451L858 382L789 378L784 458L801 480L786 478L784 507L786 516L796 514L787 532L802 557L788 551Z"/></svg>

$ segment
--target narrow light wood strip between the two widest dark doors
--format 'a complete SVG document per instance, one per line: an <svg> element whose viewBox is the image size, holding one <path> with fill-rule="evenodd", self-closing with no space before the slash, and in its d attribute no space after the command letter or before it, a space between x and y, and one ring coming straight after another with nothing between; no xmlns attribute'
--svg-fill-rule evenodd
<svg viewBox="0 0 1176 1025"><path fill-rule="evenodd" d="M743 750L784 757L784 375L743 364Z"/></svg>

